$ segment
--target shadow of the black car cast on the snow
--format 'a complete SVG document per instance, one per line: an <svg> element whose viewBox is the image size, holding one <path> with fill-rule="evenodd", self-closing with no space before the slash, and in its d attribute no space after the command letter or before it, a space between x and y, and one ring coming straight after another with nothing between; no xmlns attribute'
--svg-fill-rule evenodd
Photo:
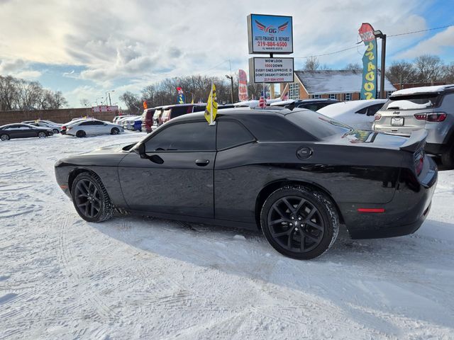
<svg viewBox="0 0 454 340"><path fill-rule="evenodd" d="M266 287L284 286L340 307L367 327L398 334L392 319L422 320L452 329L452 242L418 233L392 239L352 240L345 229L318 259L297 261L278 254L261 232L149 217L117 217L89 224L159 259L242 276ZM427 221L454 229L454 224ZM170 263L171 265L171 263ZM153 263L150 263L153 266ZM192 267L191 267L192 268Z"/></svg>

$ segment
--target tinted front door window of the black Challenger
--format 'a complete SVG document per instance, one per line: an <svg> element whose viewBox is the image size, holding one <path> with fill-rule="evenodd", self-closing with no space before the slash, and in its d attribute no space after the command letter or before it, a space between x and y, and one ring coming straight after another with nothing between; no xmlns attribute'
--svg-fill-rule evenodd
<svg viewBox="0 0 454 340"><path fill-rule="evenodd" d="M189 122L170 125L145 142L145 152L214 151L216 125Z"/></svg>

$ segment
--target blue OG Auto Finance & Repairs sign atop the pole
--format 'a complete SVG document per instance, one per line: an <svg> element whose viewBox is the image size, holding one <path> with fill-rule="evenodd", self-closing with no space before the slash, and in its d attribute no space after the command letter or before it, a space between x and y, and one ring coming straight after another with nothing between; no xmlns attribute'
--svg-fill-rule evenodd
<svg viewBox="0 0 454 340"><path fill-rule="evenodd" d="M248 15L250 54L293 53L292 16Z"/></svg>

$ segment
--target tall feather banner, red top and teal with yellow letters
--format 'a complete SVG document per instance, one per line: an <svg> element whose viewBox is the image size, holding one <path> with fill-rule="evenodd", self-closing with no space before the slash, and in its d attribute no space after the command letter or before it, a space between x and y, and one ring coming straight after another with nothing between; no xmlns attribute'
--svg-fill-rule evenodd
<svg viewBox="0 0 454 340"><path fill-rule="evenodd" d="M361 99L377 98L377 39L370 23L362 23L360 37L367 47L362 56Z"/></svg>

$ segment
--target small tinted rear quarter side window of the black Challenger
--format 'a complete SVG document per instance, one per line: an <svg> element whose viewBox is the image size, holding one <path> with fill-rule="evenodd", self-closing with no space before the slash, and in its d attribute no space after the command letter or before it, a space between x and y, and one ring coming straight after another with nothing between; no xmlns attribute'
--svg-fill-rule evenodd
<svg viewBox="0 0 454 340"><path fill-rule="evenodd" d="M218 150L255 141L255 137L249 130L235 120L219 120L217 125L216 149Z"/></svg>

